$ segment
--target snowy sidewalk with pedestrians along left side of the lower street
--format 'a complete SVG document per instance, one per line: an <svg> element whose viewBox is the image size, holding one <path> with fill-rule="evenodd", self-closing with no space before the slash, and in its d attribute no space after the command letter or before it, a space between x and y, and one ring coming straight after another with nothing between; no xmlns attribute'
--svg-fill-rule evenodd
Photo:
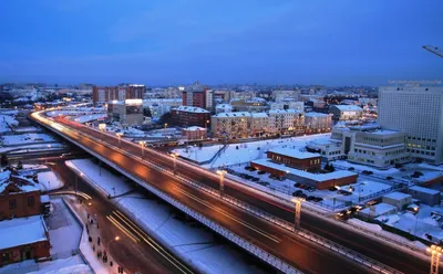
<svg viewBox="0 0 443 274"><path fill-rule="evenodd" d="M66 198L66 202L71 205L79 218L83 221L86 225L85 230L83 230L82 240L80 243L80 250L82 251L83 255L86 257L87 262L90 263L91 267L94 270L96 274L119 274L117 267L119 265L115 263L114 259L107 251L107 246L105 246L105 241L101 236L101 230L97 229L97 222L94 217L87 218L87 209L83 203L78 203L74 198ZM89 220L93 220L93 224ZM92 242L89 241L91 236ZM101 244L97 244L99 236L101 238ZM101 257L97 256L97 252L101 251L103 254L106 252L107 262L104 263ZM113 265L111 266L111 262ZM126 272L124 272L126 273Z"/></svg>

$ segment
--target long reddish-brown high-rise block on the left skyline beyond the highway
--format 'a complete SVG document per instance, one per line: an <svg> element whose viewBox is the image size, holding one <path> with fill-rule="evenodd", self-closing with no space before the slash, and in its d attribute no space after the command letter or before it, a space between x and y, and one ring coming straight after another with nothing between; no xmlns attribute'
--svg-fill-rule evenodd
<svg viewBox="0 0 443 274"><path fill-rule="evenodd" d="M96 105L110 101L142 99L145 92L146 86L144 85L94 86L92 88L92 101Z"/></svg>

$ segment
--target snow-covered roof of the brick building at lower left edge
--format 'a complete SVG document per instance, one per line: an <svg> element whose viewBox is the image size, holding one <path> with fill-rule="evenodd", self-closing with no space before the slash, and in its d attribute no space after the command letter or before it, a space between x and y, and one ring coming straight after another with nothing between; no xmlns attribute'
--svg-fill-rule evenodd
<svg viewBox="0 0 443 274"><path fill-rule="evenodd" d="M0 250L48 240L47 226L40 215L0 222Z"/></svg>

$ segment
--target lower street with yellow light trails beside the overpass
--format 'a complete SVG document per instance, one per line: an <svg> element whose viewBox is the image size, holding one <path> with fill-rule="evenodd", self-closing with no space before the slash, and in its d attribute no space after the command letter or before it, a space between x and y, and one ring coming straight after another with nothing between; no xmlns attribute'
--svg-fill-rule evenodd
<svg viewBox="0 0 443 274"><path fill-rule="evenodd" d="M65 183L62 190L74 190L75 173L64 165L64 159L60 159L54 164L51 166L52 170ZM156 243L143 230L133 224L109 200L103 199L81 178L79 178L78 188L79 191L92 197L89 212L91 215L96 214L97 217L102 233L102 243L109 242L107 252L111 252L116 263L123 266L126 272L146 274L196 273L190 266L172 256L164 246ZM127 231L123 232L117 225ZM121 240L112 241L117 235Z"/></svg>

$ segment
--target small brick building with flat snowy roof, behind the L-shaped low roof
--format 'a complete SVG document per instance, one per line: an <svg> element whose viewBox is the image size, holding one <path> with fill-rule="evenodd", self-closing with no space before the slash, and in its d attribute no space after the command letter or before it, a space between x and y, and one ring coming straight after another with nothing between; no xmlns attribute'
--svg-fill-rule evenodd
<svg viewBox="0 0 443 274"><path fill-rule="evenodd" d="M298 149L275 148L268 150L267 156L276 162L305 171L319 171L321 169L321 155L319 154L301 152Z"/></svg>

